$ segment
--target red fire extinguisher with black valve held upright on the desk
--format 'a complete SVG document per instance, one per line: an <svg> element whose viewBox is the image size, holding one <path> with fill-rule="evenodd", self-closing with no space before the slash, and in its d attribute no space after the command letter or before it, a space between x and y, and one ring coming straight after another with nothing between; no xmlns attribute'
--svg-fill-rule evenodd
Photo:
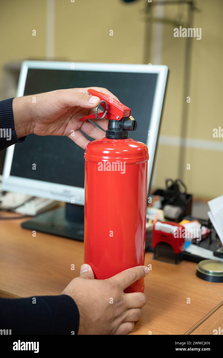
<svg viewBox="0 0 223 358"><path fill-rule="evenodd" d="M80 119L107 118L105 137L85 149L84 262L96 279L107 279L144 265L148 148L130 139L137 128L130 108L89 89L100 98L104 113ZM144 279L124 292L143 292Z"/></svg>

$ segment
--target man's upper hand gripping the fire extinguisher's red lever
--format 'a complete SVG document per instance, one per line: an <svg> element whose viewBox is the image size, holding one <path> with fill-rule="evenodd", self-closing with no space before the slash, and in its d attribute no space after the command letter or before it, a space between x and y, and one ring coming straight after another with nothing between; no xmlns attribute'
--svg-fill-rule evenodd
<svg viewBox="0 0 223 358"><path fill-rule="evenodd" d="M90 121L79 122L79 119L94 114L100 99L91 96L89 88L96 89L117 99L105 88L71 88L40 93L33 96L14 98L13 114L15 131L18 138L30 133L37 135L63 135L70 137L83 149L89 140L81 133L83 131L94 139L103 138L105 132ZM108 120L94 120L104 130ZM81 129L81 131L80 131Z"/></svg>

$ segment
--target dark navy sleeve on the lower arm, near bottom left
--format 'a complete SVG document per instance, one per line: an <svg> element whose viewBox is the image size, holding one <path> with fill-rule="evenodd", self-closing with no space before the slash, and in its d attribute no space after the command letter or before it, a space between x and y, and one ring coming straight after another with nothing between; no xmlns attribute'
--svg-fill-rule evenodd
<svg viewBox="0 0 223 358"><path fill-rule="evenodd" d="M0 329L11 334L78 334L79 311L68 295L0 299Z"/></svg>

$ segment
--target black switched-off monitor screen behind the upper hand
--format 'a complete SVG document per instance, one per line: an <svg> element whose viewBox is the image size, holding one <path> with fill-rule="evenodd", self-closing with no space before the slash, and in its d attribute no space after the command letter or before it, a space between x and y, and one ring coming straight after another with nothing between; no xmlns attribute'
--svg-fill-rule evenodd
<svg viewBox="0 0 223 358"><path fill-rule="evenodd" d="M147 142L157 74L28 69L24 95L75 87L105 87L131 108L137 130L129 137ZM33 164L36 170L33 170ZM30 134L16 144L10 175L84 187L84 150L68 137Z"/></svg>

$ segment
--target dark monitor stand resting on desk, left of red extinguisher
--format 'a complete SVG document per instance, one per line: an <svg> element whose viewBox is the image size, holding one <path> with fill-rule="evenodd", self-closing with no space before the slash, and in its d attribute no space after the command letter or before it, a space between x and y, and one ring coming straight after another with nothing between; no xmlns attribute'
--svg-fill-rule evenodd
<svg viewBox="0 0 223 358"><path fill-rule="evenodd" d="M84 206L66 203L21 224L25 229L84 241Z"/></svg>

